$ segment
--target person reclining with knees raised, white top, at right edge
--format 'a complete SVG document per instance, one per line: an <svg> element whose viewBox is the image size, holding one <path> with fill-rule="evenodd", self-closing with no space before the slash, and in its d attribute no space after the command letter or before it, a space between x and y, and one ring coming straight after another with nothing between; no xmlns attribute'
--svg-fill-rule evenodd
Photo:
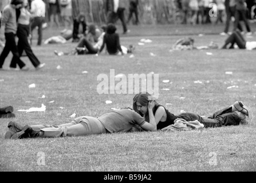
<svg viewBox="0 0 256 183"><path fill-rule="evenodd" d="M256 41L245 41L243 35L239 30L235 30L225 41L222 49L227 49L227 46L230 45L229 49L234 49L234 44L237 43L239 49L253 50L256 49Z"/></svg>

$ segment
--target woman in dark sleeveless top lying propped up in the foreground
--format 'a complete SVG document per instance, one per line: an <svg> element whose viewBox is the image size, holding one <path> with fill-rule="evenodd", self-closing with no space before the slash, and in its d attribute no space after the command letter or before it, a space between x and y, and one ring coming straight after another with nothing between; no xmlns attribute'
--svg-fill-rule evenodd
<svg viewBox="0 0 256 183"><path fill-rule="evenodd" d="M139 93L133 98L133 110L140 114L141 117L144 117L145 121L149 119L149 111L151 111L148 108L149 101L152 101L152 96L148 93ZM200 117L198 114L194 113L182 113L175 116L174 114L168 112L164 106L159 105L154 101L153 115L155 116L157 129L163 129L174 124L174 121L177 118L181 118L187 122L198 120L204 125L204 127L208 128L239 125L240 123L247 124L246 116L249 116L249 112L241 101L237 101L233 105L219 110L208 118Z"/></svg>

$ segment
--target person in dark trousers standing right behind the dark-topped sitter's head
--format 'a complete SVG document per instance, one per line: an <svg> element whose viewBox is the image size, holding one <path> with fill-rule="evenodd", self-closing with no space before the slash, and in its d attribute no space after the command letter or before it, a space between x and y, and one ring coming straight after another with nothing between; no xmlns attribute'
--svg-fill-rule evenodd
<svg viewBox="0 0 256 183"><path fill-rule="evenodd" d="M108 23L116 23L117 19L120 19L123 25L123 34L127 34L129 30L124 18L125 0L107 0L106 10Z"/></svg>

